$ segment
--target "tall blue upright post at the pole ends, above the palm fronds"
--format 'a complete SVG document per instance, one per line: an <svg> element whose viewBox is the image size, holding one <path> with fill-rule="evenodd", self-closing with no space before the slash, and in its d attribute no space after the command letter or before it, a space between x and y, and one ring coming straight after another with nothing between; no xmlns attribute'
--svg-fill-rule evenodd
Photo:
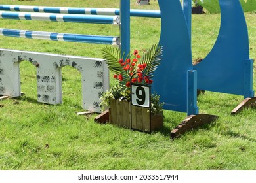
<svg viewBox="0 0 256 183"><path fill-rule="evenodd" d="M120 0L121 56L130 55L130 0Z"/></svg>

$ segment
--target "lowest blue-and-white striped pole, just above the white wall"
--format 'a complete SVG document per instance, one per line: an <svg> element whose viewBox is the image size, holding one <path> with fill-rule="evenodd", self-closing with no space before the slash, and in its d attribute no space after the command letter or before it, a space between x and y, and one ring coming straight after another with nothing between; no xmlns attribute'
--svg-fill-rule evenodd
<svg viewBox="0 0 256 183"><path fill-rule="evenodd" d="M16 29L1 29L0 35L9 37L23 37L28 39L47 39L51 41L82 42L93 44L112 44L119 46L119 37L99 35L79 35L69 33L51 33L43 31L26 31Z"/></svg>

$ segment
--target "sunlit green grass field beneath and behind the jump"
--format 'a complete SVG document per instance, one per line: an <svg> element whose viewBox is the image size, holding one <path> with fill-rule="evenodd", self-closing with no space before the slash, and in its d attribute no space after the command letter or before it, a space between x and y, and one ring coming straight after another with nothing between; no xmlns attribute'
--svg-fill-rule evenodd
<svg viewBox="0 0 256 183"><path fill-rule="evenodd" d="M118 8L119 1L7 1L2 4L58 7ZM158 9L150 6L131 8ZM250 57L256 58L256 13L245 14L249 29ZM160 20L131 18L131 50L142 51L160 36ZM193 59L204 58L219 32L220 14L192 16ZM118 35L112 25L0 20L0 27L92 35ZM102 57L103 46L0 37L0 48ZM254 71L255 72L255 71ZM242 96L206 92L198 97L201 113L219 119L171 141L169 132L186 114L164 111L164 127L152 134L100 125L92 116L77 116L81 108L81 75L62 69L62 105L37 103L36 69L20 63L24 96L0 101L0 169L256 169L256 112L245 109L231 116ZM254 81L255 81L254 76ZM255 82L254 82L255 83ZM113 80L111 80L113 84ZM255 90L255 85L253 86Z"/></svg>

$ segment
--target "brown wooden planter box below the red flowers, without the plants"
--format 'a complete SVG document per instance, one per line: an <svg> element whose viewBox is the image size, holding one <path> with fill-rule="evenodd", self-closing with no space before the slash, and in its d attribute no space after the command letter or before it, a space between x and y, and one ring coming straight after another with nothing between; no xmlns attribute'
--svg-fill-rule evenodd
<svg viewBox="0 0 256 183"><path fill-rule="evenodd" d="M148 108L131 106L131 103L125 100L111 99L109 123L119 127L152 132L163 127L163 115L151 115Z"/></svg>

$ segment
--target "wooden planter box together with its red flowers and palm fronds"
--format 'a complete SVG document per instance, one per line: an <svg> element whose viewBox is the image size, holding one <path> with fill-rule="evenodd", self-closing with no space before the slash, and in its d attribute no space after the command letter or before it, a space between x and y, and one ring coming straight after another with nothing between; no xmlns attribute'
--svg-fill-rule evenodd
<svg viewBox="0 0 256 183"><path fill-rule="evenodd" d="M154 71L160 65L162 52L162 46L153 44L142 55L134 50L127 58L120 58L118 48L108 46L103 49L103 58L118 82L101 97L101 107L110 107L111 124L148 132L163 126L163 103L156 93L150 95L149 108L131 105L131 84L150 85L154 82Z"/></svg>

